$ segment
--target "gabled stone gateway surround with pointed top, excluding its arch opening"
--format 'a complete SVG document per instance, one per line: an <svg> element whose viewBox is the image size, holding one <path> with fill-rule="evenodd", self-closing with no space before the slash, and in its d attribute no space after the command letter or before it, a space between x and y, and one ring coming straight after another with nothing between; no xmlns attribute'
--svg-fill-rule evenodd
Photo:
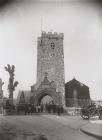
<svg viewBox="0 0 102 140"><path fill-rule="evenodd" d="M56 92L55 83L53 81L49 82L49 80L47 79L47 76L44 77L44 80L41 82L41 84L39 85L37 90L34 91L34 93L35 93L35 95L34 95L35 105L40 105L43 97L45 97L47 95L52 98L53 103L55 105L62 104L60 93Z"/></svg>

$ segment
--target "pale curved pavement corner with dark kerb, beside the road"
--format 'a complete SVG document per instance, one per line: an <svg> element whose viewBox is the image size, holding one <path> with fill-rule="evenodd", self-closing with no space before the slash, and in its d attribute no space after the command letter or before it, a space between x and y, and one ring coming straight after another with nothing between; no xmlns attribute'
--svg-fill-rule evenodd
<svg viewBox="0 0 102 140"><path fill-rule="evenodd" d="M82 132L102 140L102 120L91 120L88 124L80 128Z"/></svg>

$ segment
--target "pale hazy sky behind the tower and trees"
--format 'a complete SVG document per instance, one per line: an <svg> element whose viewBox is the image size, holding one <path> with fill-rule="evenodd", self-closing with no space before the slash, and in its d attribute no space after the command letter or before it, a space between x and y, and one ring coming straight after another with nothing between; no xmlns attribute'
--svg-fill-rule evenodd
<svg viewBox="0 0 102 140"><path fill-rule="evenodd" d="M15 97L36 83L37 37L43 30L64 33L65 82L76 78L89 87L92 99L102 100L101 6L82 1L16 0L1 7L0 78L5 96L7 64L15 65Z"/></svg>

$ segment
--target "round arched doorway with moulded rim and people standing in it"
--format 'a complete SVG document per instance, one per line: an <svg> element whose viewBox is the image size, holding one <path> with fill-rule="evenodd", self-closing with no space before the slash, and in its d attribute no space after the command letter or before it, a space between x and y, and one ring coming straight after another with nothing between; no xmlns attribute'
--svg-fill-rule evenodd
<svg viewBox="0 0 102 140"><path fill-rule="evenodd" d="M38 112L56 113L60 104L60 96L52 88L38 90L35 97L35 106Z"/></svg>

